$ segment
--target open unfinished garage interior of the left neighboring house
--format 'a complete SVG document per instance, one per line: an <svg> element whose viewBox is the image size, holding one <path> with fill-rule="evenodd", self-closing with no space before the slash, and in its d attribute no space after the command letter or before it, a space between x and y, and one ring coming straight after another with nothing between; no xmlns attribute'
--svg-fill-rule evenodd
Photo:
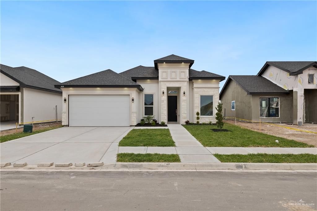
<svg viewBox="0 0 317 211"><path fill-rule="evenodd" d="M19 121L19 94L0 94L1 122Z"/></svg>

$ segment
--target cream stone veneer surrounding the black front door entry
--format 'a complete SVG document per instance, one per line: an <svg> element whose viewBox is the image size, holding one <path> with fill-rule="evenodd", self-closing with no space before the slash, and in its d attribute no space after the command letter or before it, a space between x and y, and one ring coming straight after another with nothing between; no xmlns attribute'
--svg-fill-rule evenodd
<svg viewBox="0 0 317 211"><path fill-rule="evenodd" d="M184 124L184 122L187 120L187 99L188 98L188 88L187 88L187 81L161 81L161 89L159 90L161 95L161 121L164 121L167 123L167 87L180 87L180 92L178 94L178 97L181 98L181 105L179 105L181 114L179 115L179 123ZM164 90L164 96L162 94ZM185 91L185 96L183 95L183 92ZM179 99L178 99L179 100ZM179 101L178 101L179 102Z"/></svg>

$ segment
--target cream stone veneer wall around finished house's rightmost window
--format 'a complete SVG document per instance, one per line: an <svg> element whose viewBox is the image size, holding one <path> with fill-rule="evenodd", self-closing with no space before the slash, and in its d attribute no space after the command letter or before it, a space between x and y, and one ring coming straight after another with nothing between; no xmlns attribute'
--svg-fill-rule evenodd
<svg viewBox="0 0 317 211"><path fill-rule="evenodd" d="M201 88L201 87L193 87L194 88L194 123L196 123L196 112L198 111L200 113L200 95L213 95L213 111L212 115L210 117L201 117L199 119L199 122L205 122L208 123L209 121L212 121L212 123L216 123L216 107L219 102L219 88Z"/></svg>

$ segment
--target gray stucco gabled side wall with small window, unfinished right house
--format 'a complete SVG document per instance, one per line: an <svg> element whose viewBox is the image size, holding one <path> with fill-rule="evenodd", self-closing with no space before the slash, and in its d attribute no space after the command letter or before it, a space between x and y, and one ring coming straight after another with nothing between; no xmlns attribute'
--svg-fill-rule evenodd
<svg viewBox="0 0 317 211"><path fill-rule="evenodd" d="M235 81L230 81L220 100L223 103L223 115L224 109L226 109L226 117L252 119L252 96L248 95ZM236 104L235 111L231 110L231 101L233 100Z"/></svg>

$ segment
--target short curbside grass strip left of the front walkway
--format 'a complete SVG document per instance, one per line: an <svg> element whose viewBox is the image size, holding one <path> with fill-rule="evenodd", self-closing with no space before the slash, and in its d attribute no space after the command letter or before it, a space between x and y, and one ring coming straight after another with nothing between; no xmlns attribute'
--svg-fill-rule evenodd
<svg viewBox="0 0 317 211"><path fill-rule="evenodd" d="M176 154L134 154L119 153L117 162L134 162L134 163L179 163L179 156Z"/></svg>

